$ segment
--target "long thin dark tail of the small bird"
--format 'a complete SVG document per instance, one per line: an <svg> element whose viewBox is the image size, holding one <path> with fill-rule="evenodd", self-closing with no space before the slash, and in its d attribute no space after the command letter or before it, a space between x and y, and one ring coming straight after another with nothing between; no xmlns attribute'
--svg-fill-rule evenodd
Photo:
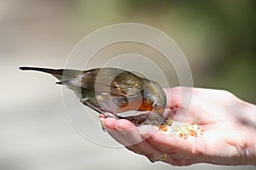
<svg viewBox="0 0 256 170"><path fill-rule="evenodd" d="M49 68L40 68L40 67L30 67L30 66L21 66L20 67L21 71L41 71L41 72L46 72L60 81L62 79L70 79L77 77L81 72L83 71L78 71L78 70L68 70L68 69L49 69Z"/></svg>

